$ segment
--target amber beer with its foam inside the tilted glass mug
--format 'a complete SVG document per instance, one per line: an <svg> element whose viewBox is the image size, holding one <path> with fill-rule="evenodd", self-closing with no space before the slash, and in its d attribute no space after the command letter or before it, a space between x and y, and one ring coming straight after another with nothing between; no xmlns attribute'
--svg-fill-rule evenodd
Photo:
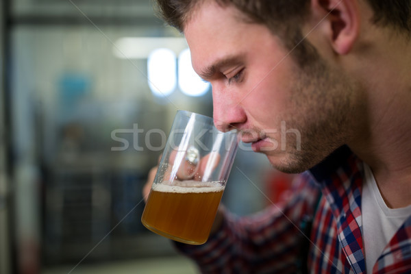
<svg viewBox="0 0 411 274"><path fill-rule="evenodd" d="M224 188L184 188L157 184L141 221L151 231L191 245L208 239Z"/></svg>

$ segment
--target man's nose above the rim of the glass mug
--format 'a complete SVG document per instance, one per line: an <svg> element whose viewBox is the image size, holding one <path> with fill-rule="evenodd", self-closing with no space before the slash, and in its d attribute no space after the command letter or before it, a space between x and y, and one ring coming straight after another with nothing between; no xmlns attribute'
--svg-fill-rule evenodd
<svg viewBox="0 0 411 274"><path fill-rule="evenodd" d="M221 132L241 129L247 121L245 110L232 90L224 92L213 86L212 103L214 125Z"/></svg>

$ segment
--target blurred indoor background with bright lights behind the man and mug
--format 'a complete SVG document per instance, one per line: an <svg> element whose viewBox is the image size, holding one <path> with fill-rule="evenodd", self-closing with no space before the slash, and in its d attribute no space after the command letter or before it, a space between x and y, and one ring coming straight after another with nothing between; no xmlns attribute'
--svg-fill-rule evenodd
<svg viewBox="0 0 411 274"><path fill-rule="evenodd" d="M212 116L184 38L149 0L0 3L0 273L198 273L140 223L158 129ZM256 212L289 179L242 145L223 203Z"/></svg>

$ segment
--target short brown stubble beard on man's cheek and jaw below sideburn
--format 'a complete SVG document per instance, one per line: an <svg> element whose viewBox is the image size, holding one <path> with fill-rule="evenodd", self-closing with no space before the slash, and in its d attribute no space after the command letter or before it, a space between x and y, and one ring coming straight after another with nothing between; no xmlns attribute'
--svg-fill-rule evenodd
<svg viewBox="0 0 411 274"><path fill-rule="evenodd" d="M271 164L285 173L301 173L321 162L349 140L349 121L354 113L354 85L341 72L318 58L310 67L296 64L290 109L282 121L297 129L301 142L286 136L286 151ZM293 138L294 137L294 138Z"/></svg>

